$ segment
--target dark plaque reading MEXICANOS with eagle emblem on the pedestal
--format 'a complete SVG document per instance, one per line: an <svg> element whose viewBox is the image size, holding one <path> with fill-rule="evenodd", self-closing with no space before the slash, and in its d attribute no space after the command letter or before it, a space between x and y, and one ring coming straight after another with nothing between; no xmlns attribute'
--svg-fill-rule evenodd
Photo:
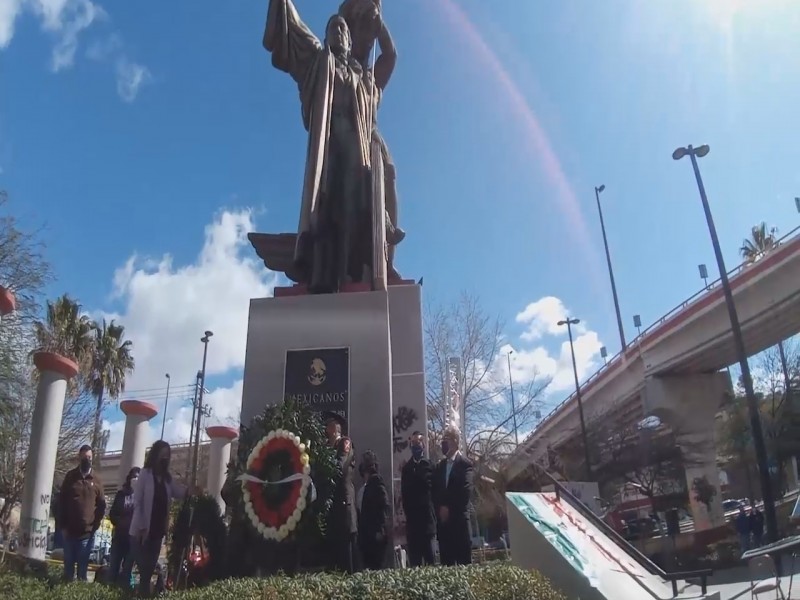
<svg viewBox="0 0 800 600"><path fill-rule="evenodd" d="M347 423L350 413L350 349L287 350L283 397Z"/></svg>

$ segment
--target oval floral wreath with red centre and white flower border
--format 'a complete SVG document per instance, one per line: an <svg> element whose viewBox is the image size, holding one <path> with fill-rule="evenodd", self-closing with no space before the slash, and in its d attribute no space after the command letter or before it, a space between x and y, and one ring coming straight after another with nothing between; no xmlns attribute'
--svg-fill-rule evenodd
<svg viewBox="0 0 800 600"><path fill-rule="evenodd" d="M316 490L311 481L306 445L285 429L270 431L247 459L242 484L244 509L264 539L281 541L292 533Z"/></svg>

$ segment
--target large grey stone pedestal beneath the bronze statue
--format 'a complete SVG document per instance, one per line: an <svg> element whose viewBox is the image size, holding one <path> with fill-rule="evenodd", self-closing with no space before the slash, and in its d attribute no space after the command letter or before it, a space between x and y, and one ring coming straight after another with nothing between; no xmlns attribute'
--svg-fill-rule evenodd
<svg viewBox="0 0 800 600"><path fill-rule="evenodd" d="M320 295L303 293L299 287L250 301L242 423L247 425L285 395L325 410L329 399L339 402L344 393L347 429L357 458L366 450L377 454L394 515L390 531L402 531L402 514L395 506L399 490L390 486L399 483L400 469L409 459L411 433L419 430L427 439L420 286L407 283L386 291ZM326 372L324 361L313 360L315 350L325 356L335 349L346 349L346 374ZM296 370L287 371L291 351L304 351L298 354L309 363L299 382ZM344 389L333 381L346 382ZM298 392L298 385L311 387ZM326 387L330 385L334 387Z"/></svg>

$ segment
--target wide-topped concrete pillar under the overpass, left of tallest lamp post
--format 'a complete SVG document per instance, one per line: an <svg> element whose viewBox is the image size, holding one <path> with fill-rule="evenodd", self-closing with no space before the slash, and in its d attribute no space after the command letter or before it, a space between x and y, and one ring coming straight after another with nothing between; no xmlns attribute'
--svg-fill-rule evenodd
<svg viewBox="0 0 800 600"><path fill-rule="evenodd" d="M731 393L727 373L652 377L645 382L645 414L669 425L681 448L695 531L725 523L714 432L716 415ZM696 497L696 488L706 482L715 491L708 506Z"/></svg>

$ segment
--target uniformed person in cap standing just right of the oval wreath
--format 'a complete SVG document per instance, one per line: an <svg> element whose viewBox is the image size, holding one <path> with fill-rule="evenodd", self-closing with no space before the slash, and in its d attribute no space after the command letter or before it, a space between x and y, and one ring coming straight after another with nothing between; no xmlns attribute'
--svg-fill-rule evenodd
<svg viewBox="0 0 800 600"><path fill-rule="evenodd" d="M333 492L333 506L328 518L328 541L332 566L345 573L355 571L355 549L358 533L356 490L353 475L356 454L353 442L342 435L343 419L329 414L325 420L328 445L336 450L340 473Z"/></svg>

